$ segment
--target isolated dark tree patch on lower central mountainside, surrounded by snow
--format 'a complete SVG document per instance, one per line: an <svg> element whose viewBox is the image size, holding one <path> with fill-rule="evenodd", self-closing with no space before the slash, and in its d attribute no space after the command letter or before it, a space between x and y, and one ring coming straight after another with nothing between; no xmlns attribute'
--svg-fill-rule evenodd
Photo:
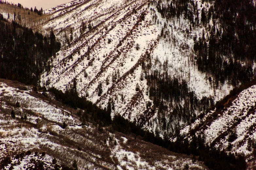
<svg viewBox="0 0 256 170"><path fill-rule="evenodd" d="M160 132L166 131L169 135L178 133L181 123L194 122L198 113L206 112L213 106L212 96L198 99L194 91L190 91L185 79L171 77L168 74L168 62L164 61L161 68L152 70L152 66L159 63L156 58L152 61L149 54L142 63L142 69L147 80L147 95L158 108L157 123ZM161 71L163 70L163 71ZM141 80L144 74L141 74ZM152 122L148 125L151 126Z"/></svg>

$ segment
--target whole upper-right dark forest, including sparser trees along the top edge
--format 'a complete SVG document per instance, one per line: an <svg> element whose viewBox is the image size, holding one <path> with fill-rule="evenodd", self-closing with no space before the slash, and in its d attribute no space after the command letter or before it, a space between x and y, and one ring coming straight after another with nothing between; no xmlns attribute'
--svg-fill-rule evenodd
<svg viewBox="0 0 256 170"><path fill-rule="evenodd" d="M191 29L203 27L203 33L194 36L195 62L199 71L206 73L214 88L225 82L236 87L252 80L256 70L256 8L252 0L205 0L213 5L199 7L191 0L170 3L152 1L162 18L184 19ZM201 13L201 16L199 15ZM154 17L156 18L156 17ZM213 23L210 24L210 22ZM159 24L159 21L157 21ZM164 35L164 27L161 35Z"/></svg>

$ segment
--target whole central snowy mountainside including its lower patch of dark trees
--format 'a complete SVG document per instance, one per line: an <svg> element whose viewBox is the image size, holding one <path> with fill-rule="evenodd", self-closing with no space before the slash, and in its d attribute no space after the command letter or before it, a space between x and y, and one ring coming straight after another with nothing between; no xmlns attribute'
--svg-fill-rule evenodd
<svg viewBox="0 0 256 170"><path fill-rule="evenodd" d="M213 15L214 8L218 10L214 3L88 0L49 9L46 13L52 19L42 30L53 29L62 49L41 76L41 86L75 89L102 108L111 105L112 117L120 114L151 132L171 137L240 83L228 78L220 81L220 75L213 77L218 71L199 71L196 43L205 40L207 46L213 35L222 32L222 19ZM162 12L175 7L181 12L172 16L170 11ZM203 13L207 13L206 23ZM221 56L223 64L231 61L230 55ZM241 65L246 63L241 61ZM184 86L180 93L188 89L187 94L178 94L176 99L167 94L169 100L163 93L157 99L161 87L154 77L177 79L176 91Z"/></svg>

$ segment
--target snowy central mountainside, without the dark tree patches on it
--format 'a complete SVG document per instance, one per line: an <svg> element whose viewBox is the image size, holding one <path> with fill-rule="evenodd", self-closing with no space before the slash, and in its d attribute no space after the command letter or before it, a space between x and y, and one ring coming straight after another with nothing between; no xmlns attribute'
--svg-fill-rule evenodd
<svg viewBox="0 0 256 170"><path fill-rule="evenodd" d="M211 6L197 3L199 11ZM62 41L62 50L53 59L51 70L42 75L41 86L66 91L76 80L80 96L102 108L111 102L112 116L119 113L145 124L149 130L157 127L155 123L146 125L159 118L155 106L147 107L152 101L144 79L155 70L159 74L164 70L171 78L178 78L179 83L185 80L189 91L194 91L199 100L212 97L216 102L233 88L227 83L213 88L207 76L195 66L193 37L201 36L204 27L199 25L188 31L188 20L164 19L148 1L74 1L45 12L51 13L52 19L43 24L43 30L54 30ZM145 73L142 63L148 56L152 67ZM139 91L136 91L137 84ZM167 112L172 112L173 107L167 106ZM169 121L168 114L166 120ZM186 123L179 122L181 126Z"/></svg>

